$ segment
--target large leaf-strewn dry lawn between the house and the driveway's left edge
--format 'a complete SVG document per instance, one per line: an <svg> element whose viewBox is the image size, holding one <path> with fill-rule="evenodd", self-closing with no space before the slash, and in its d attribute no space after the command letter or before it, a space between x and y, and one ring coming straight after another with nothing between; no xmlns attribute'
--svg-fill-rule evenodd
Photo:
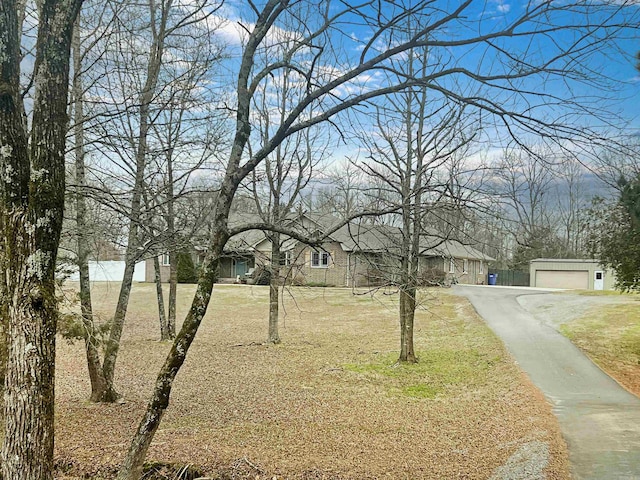
<svg viewBox="0 0 640 480"><path fill-rule="evenodd" d="M94 287L103 319L118 287ZM117 365L124 404L89 403L82 342L59 341L60 477L110 478L121 462L170 347L157 341L154 289L132 293ZM193 291L179 286L180 318ZM149 460L221 479L486 479L522 445L544 442L547 478L568 478L550 407L502 344L466 300L435 290L425 299L421 361L394 366L395 296L296 288L285 293L283 343L271 346L268 290L216 286Z"/></svg>

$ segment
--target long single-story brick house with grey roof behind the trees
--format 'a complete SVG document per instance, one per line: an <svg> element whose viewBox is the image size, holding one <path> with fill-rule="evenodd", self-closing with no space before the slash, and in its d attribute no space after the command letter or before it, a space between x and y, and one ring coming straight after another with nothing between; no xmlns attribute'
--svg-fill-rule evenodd
<svg viewBox="0 0 640 480"><path fill-rule="evenodd" d="M248 220L245 216L244 220ZM330 216L302 214L295 220L300 231L326 231L339 223ZM235 220L234 220L235 223ZM283 238L281 245L282 281L298 285L332 285L346 287L374 286L393 283L400 265L398 245L401 230L384 225L347 224L317 247L310 247L291 238ZM198 251L197 260L204 257ZM161 264L166 264L163 256ZM435 270L443 277L459 283L486 283L488 255L455 240L429 232L420 242L419 271ZM252 269L271 262L271 243L263 232L249 230L232 237L221 262L220 281L235 281ZM148 281L153 281L153 262ZM168 266L166 277L168 279Z"/></svg>

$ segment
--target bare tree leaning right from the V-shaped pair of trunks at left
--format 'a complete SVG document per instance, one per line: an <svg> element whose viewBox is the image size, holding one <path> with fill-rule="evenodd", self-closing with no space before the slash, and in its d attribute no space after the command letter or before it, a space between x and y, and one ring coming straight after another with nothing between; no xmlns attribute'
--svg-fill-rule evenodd
<svg viewBox="0 0 640 480"><path fill-rule="evenodd" d="M175 250L168 241L175 228L163 228L154 217L162 216L158 212L164 211L166 220L168 211L169 227L174 226L173 205L180 192L172 189L178 183L184 188L189 173L180 171L174 175L170 170L170 187L164 181L159 186L154 183L157 177L166 177L157 173L159 170L154 174L154 168L167 167L169 159L171 169L181 148L198 158L192 158L196 164L210 153L208 147L196 148L181 138L187 124L184 117L189 116L185 112L195 105L193 91L202 88L195 85L210 72L212 62L219 56L219 49L210 38L209 19L213 13L209 9L205 12L204 2L125 2L110 12L110 35L88 42L104 53L94 54L85 70L78 69L90 78L87 96L92 99L94 113L91 121L85 119L83 128L99 159L92 168L91 189L85 188L85 192L91 192L94 199L127 219L125 272L101 365L105 383L101 392L92 394L99 401L120 398L114 385L115 365L135 264L147 255L162 253L158 252L158 245L164 251ZM179 47L175 38L183 41ZM189 38L192 43L186 41ZM178 116L178 121L172 116ZM204 122L200 120L200 124ZM208 139L203 132L206 131L201 130L200 135ZM148 191L149 188L155 190ZM175 264L175 257L173 260ZM175 330L175 282L170 292L169 316L162 326L164 337L171 338Z"/></svg>

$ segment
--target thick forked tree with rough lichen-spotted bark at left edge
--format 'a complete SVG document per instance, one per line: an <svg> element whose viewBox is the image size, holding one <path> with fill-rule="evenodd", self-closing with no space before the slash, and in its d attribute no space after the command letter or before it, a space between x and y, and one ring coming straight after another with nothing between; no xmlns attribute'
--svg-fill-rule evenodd
<svg viewBox="0 0 640 480"><path fill-rule="evenodd" d="M0 8L0 302L9 338L2 477L53 478L58 309L70 48L82 0L38 2L31 121L20 87L25 2ZM29 128L30 127L30 128Z"/></svg>

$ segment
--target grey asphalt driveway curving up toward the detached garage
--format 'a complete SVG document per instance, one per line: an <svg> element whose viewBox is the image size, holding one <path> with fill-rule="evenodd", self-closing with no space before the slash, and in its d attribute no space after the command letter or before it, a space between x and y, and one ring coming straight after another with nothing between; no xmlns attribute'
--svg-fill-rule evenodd
<svg viewBox="0 0 640 480"><path fill-rule="evenodd" d="M640 479L640 399L555 329L587 308L589 297L466 285L454 293L471 301L553 406L574 478ZM570 309L542 308L557 302Z"/></svg>

